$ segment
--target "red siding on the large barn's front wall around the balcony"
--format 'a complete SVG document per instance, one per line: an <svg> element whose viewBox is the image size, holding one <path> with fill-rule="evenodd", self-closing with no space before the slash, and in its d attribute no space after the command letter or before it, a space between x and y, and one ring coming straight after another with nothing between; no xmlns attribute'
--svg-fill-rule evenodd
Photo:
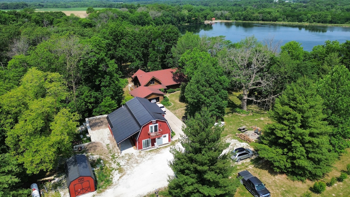
<svg viewBox="0 0 350 197"><path fill-rule="evenodd" d="M171 138L170 132L171 132L171 130L170 130L170 127L169 127L168 123L166 121L163 121L163 120L156 120L155 124L157 124L157 123L158 123L158 130L162 129L162 135L169 134L168 135L168 142L170 142L170 138ZM139 138L137 140L137 143L135 143L136 148L138 150L142 149L142 140L146 140L146 139L149 138L149 135L148 135L149 125L152 125L152 124L153 124L152 121L150 121L147 124L142 126ZM151 139L151 146L152 147L154 147L154 143L155 143L155 139Z"/></svg>

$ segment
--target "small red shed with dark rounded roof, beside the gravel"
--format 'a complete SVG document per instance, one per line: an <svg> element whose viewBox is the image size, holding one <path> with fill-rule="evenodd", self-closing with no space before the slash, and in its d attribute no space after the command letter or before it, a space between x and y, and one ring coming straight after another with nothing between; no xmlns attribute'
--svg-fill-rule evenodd
<svg viewBox="0 0 350 197"><path fill-rule="evenodd" d="M96 180L89 159L85 155L70 157L64 169L70 197L96 191Z"/></svg>

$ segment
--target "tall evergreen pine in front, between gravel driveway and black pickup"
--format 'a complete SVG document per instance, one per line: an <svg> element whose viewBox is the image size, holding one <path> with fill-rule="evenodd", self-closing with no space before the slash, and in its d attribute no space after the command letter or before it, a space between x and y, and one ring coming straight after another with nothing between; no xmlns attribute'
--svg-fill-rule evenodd
<svg viewBox="0 0 350 197"><path fill-rule="evenodd" d="M169 180L171 196L233 196L238 179L230 178L233 167L227 154L228 144L222 141L222 127L213 126L208 108L203 107L189 118L180 139L181 146L171 149L174 159L169 162L175 178Z"/></svg>

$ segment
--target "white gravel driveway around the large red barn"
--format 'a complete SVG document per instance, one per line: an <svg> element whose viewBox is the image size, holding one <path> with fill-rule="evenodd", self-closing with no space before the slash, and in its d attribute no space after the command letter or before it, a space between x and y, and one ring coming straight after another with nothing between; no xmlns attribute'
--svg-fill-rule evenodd
<svg viewBox="0 0 350 197"><path fill-rule="evenodd" d="M175 140L180 136L180 131L181 134L183 134L182 130L179 130L183 123L170 111L166 113L166 118L169 119L169 125L176 133L176 138L174 137L173 139ZM117 169L119 165L123 170L121 172L118 170L113 171L113 184L104 192L97 193L95 191L84 194L83 197L138 197L145 196L155 189L167 186L169 176L174 175L173 170L168 165L168 162L173 159L170 148L174 145L180 145L179 142L175 141L175 143L170 146L164 146L149 151L137 151L129 147L120 154L116 141L112 138L107 125L104 126L105 122L105 117L102 117L101 120L96 119L90 121L93 140L96 143L102 144L100 149L105 149L103 151L95 150L95 154L98 154L98 152L109 152L109 154L105 154L104 157L109 161L111 167ZM231 144L230 147L225 150L226 152L237 147L250 148L247 143L241 143L237 140L228 139L226 142ZM125 143L125 145L127 145L127 141ZM111 158L111 154L113 153L117 155L117 158L114 160ZM61 195L69 197L68 190L65 191L64 193L61 192Z"/></svg>

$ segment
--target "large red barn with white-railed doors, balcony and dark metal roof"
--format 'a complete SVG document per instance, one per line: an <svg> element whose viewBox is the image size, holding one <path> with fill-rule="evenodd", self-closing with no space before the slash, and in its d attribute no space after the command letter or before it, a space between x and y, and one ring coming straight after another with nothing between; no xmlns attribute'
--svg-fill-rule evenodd
<svg viewBox="0 0 350 197"><path fill-rule="evenodd" d="M117 144L131 139L138 150L170 142L165 112L147 99L135 97L107 115L108 126Z"/></svg>

